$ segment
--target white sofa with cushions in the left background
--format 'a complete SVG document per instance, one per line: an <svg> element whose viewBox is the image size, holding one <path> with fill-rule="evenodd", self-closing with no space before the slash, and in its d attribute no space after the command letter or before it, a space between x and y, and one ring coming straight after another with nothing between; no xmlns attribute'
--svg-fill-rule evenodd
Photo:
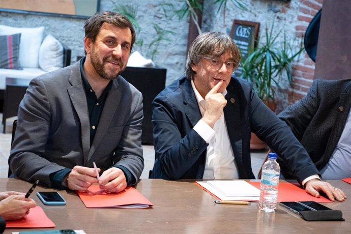
<svg viewBox="0 0 351 234"><path fill-rule="evenodd" d="M53 35L44 38L44 26L0 25L0 110L6 77L30 80L71 64L71 50Z"/></svg>

